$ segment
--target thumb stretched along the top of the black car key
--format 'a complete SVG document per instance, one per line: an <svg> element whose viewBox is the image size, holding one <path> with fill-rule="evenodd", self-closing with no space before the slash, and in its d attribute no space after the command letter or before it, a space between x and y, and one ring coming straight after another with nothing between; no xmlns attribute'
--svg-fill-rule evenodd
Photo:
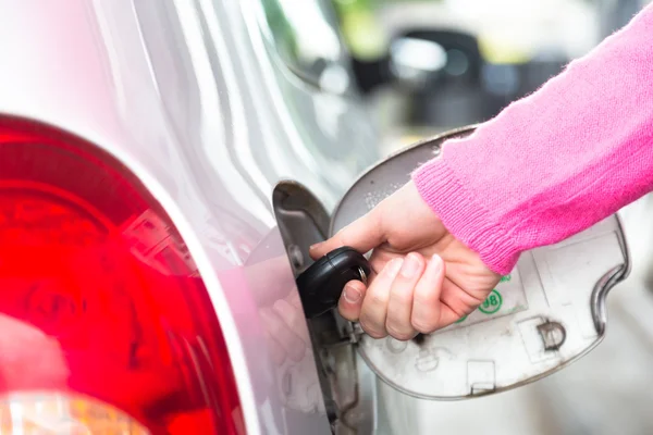
<svg viewBox="0 0 653 435"><path fill-rule="evenodd" d="M309 253L313 260L343 246L349 246L360 253L375 248L385 241L381 225L381 207L377 207L362 217L357 219L333 237L310 247Z"/></svg>

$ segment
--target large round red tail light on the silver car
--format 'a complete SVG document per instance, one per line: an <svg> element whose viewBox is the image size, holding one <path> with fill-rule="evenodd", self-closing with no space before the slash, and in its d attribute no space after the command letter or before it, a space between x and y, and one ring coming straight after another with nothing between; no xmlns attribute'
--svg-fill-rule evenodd
<svg viewBox="0 0 653 435"><path fill-rule="evenodd" d="M125 167L0 120L1 434L244 433L211 307Z"/></svg>

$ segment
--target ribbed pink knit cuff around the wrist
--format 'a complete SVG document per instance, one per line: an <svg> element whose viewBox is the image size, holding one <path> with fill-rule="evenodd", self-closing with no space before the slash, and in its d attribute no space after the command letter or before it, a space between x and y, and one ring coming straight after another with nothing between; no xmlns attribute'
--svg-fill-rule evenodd
<svg viewBox="0 0 653 435"><path fill-rule="evenodd" d="M502 224L492 221L491 213L475 200L473 192L460 183L442 157L418 167L412 181L454 237L478 252L492 271L501 275L510 273L520 252Z"/></svg>

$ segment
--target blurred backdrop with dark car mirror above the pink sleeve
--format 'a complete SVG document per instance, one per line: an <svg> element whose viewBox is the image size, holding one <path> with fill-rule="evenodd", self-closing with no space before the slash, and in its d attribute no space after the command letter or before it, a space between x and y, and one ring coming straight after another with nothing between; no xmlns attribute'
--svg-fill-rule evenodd
<svg viewBox="0 0 653 435"><path fill-rule="evenodd" d="M641 0L335 0L384 147L494 116L625 25Z"/></svg>

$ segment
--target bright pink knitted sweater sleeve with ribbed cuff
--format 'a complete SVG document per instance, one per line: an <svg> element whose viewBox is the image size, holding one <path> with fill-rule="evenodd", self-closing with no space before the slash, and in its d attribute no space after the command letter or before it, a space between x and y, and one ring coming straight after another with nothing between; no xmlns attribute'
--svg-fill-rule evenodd
<svg viewBox="0 0 653 435"><path fill-rule="evenodd" d="M508 273L653 190L653 5L412 179L447 229Z"/></svg>

